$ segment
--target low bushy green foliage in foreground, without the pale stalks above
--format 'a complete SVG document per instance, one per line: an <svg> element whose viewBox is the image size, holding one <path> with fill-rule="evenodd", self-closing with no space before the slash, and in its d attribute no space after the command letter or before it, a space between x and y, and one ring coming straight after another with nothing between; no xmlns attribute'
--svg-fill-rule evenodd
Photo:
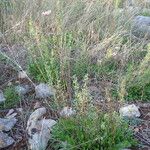
<svg viewBox="0 0 150 150"><path fill-rule="evenodd" d="M60 119L52 130L51 143L55 150L120 150L136 141L118 114L88 113Z"/></svg>

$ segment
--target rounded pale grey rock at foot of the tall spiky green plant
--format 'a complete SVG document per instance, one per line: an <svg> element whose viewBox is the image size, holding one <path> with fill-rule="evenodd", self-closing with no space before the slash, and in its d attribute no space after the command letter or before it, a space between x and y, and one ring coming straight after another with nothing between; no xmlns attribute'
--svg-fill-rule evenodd
<svg viewBox="0 0 150 150"><path fill-rule="evenodd" d="M35 87L36 98L48 98L55 95L55 91L47 84L41 83Z"/></svg>

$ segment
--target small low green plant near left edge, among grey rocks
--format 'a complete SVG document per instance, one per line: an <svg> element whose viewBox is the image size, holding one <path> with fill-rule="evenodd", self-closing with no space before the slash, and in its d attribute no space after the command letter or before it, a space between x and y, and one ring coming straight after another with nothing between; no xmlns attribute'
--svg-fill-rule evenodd
<svg viewBox="0 0 150 150"><path fill-rule="evenodd" d="M4 89L4 97L6 98L6 101L3 104L0 104L0 107L4 109L17 106L21 99L13 86Z"/></svg>

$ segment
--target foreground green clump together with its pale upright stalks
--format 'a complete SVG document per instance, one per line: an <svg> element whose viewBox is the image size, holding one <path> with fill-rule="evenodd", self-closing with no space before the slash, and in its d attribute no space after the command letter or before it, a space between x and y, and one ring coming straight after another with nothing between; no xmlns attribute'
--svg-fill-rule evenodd
<svg viewBox="0 0 150 150"><path fill-rule="evenodd" d="M128 123L118 113L104 113L92 104L87 88L88 76L82 86L74 77L76 114L60 118L52 129L49 146L58 149L120 150L137 144Z"/></svg>

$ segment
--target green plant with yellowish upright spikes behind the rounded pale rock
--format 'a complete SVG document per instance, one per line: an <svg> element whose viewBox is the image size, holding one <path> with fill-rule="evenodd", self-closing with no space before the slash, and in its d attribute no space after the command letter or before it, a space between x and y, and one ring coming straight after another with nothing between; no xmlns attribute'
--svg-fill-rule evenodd
<svg viewBox="0 0 150 150"><path fill-rule="evenodd" d="M53 43L43 37L38 46L30 49L28 71L35 80L53 85L60 79L60 62L50 44Z"/></svg>

